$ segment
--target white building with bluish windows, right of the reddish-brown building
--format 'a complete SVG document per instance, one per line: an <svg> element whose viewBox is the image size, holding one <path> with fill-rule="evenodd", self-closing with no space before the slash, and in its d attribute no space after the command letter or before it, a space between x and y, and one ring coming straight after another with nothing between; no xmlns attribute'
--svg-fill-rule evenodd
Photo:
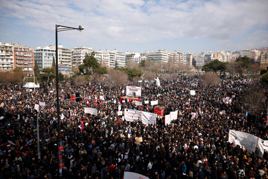
<svg viewBox="0 0 268 179"><path fill-rule="evenodd" d="M56 49L52 46L36 47L33 50L33 59L37 61L40 72L52 66L53 56L56 57Z"/></svg>

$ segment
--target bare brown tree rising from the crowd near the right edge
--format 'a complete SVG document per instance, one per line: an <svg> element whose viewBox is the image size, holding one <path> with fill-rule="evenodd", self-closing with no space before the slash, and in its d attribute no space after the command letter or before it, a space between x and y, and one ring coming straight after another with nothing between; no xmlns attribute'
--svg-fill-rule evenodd
<svg viewBox="0 0 268 179"><path fill-rule="evenodd" d="M245 94L243 95L242 102L245 104L245 108L253 114L257 113L257 109L261 106L264 100L264 96L261 92L259 83L253 82Z"/></svg>

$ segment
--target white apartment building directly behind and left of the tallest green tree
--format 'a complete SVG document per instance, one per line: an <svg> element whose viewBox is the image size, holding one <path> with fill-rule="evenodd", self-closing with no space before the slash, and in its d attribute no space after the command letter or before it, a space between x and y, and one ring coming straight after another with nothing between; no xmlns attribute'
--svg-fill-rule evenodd
<svg viewBox="0 0 268 179"><path fill-rule="evenodd" d="M91 47L75 47L72 49L72 67L77 67L83 64L83 59L85 59L86 53L90 54L94 52Z"/></svg>

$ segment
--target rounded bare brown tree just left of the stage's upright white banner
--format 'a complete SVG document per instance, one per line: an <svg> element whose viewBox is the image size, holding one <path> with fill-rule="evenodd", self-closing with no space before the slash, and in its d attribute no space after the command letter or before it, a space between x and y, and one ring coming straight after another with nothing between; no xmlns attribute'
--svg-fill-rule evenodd
<svg viewBox="0 0 268 179"><path fill-rule="evenodd" d="M124 86L128 82L128 76L125 72L121 70L113 70L109 74L109 76L104 81L105 84L107 84L110 89L113 86Z"/></svg>

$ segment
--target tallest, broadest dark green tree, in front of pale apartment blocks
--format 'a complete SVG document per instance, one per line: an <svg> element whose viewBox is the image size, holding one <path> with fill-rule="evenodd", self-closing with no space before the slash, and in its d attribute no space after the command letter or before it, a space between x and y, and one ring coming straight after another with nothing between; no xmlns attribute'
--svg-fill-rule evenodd
<svg viewBox="0 0 268 179"><path fill-rule="evenodd" d="M107 68L101 67L101 64L94 57L95 52L91 52L90 55L86 53L85 59L83 59L83 64L79 65L79 71L85 75L90 75L90 77L95 74L107 74Z"/></svg>

